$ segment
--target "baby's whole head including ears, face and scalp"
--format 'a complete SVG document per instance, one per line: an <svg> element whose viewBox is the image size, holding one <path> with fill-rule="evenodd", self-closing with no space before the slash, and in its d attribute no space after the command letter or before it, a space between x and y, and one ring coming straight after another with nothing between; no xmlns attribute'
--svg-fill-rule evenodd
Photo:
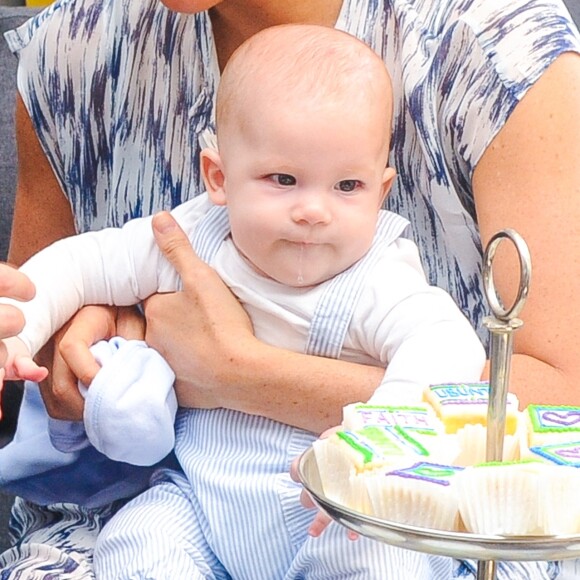
<svg viewBox="0 0 580 580"><path fill-rule="evenodd" d="M332 28L285 25L246 41L218 90L219 153L202 170L232 237L259 271L320 283L361 258L395 172L381 59Z"/></svg>

